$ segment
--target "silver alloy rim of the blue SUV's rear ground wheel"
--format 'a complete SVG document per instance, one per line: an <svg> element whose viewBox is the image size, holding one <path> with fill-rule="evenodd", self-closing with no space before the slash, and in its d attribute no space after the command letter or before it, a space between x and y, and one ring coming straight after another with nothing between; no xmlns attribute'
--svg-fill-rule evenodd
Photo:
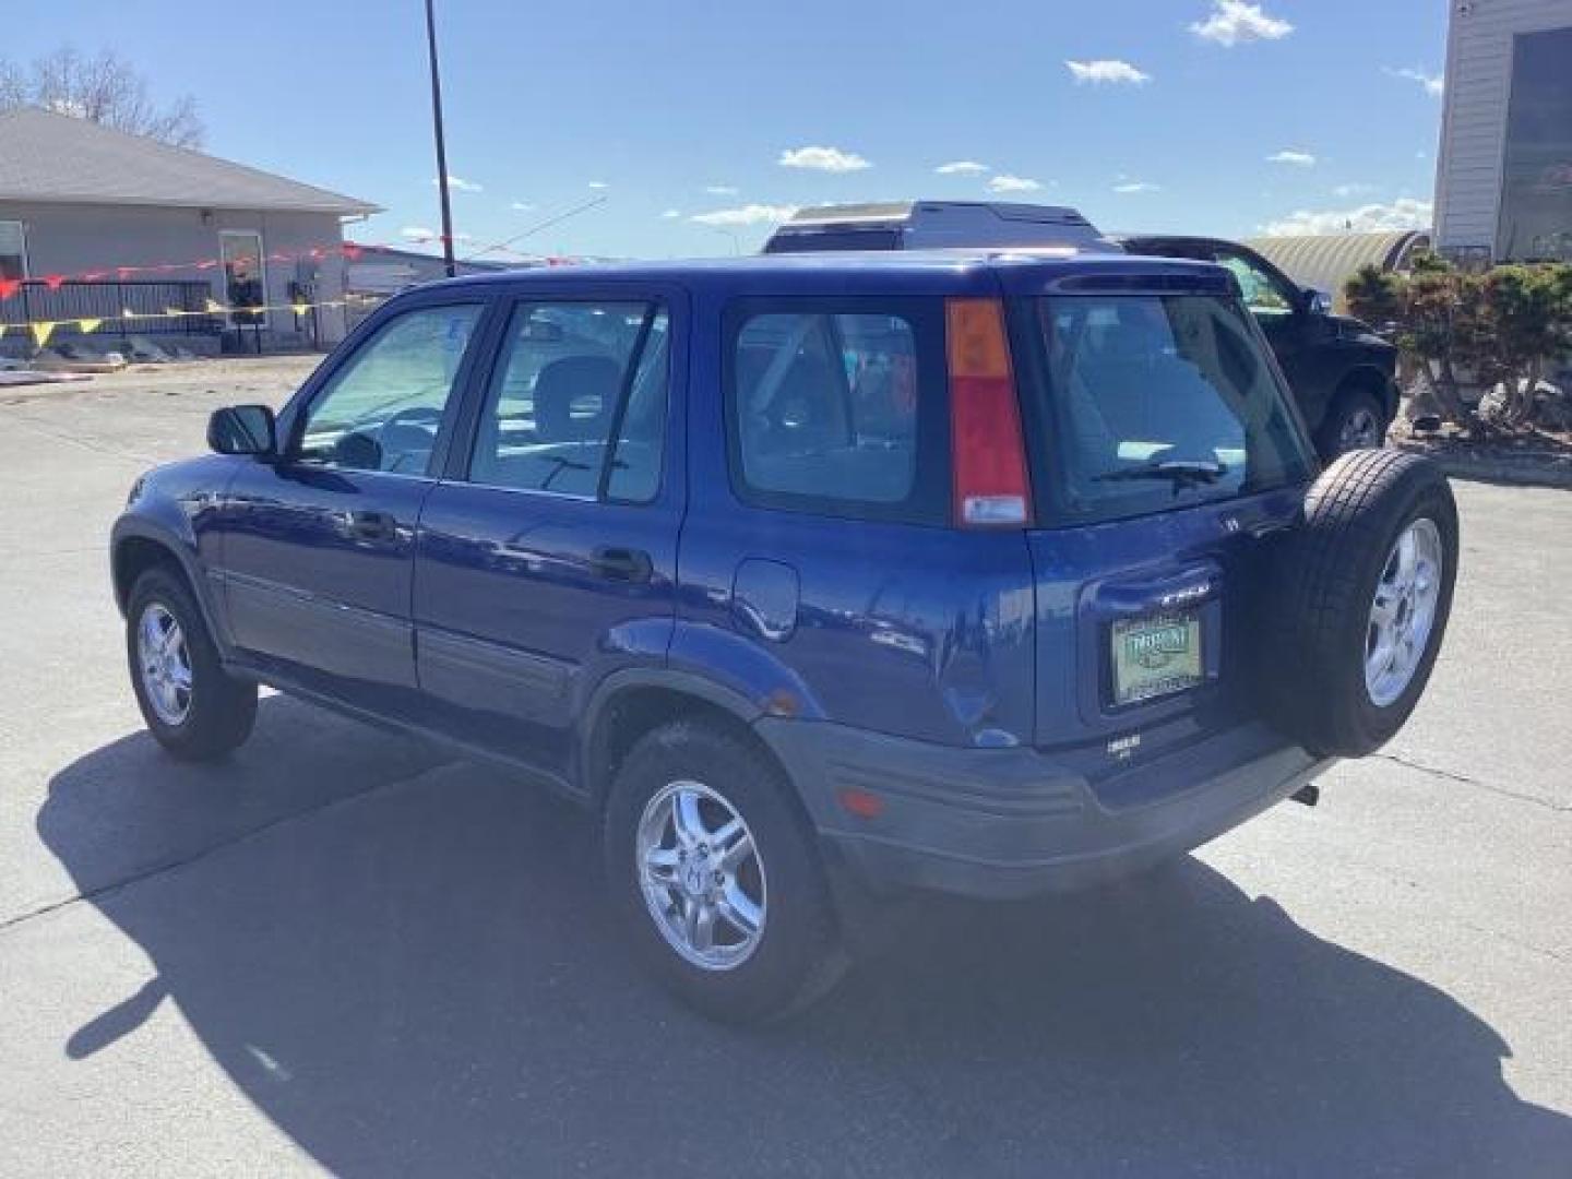
<svg viewBox="0 0 1572 1179"><path fill-rule="evenodd" d="M701 970L740 967L764 935L764 863L753 832L717 791L673 781L634 839L645 904L662 937Z"/></svg>

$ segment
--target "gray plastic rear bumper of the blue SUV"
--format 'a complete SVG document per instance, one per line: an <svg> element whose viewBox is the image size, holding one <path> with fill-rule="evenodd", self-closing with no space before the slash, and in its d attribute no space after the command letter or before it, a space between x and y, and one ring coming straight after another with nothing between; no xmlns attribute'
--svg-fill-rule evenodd
<svg viewBox="0 0 1572 1179"><path fill-rule="evenodd" d="M822 722L759 720L830 854L876 890L1022 898L1182 855L1331 762L1245 726L1089 783L1038 750L970 750ZM846 789L876 794L852 816Z"/></svg>

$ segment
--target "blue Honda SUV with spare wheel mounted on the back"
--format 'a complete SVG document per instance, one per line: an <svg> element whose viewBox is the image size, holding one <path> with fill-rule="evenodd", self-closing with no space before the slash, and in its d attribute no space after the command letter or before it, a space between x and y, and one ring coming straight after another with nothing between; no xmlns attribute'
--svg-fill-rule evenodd
<svg viewBox="0 0 1572 1179"><path fill-rule="evenodd" d="M222 756L270 684L509 762L728 1019L836 978L849 890L1094 883L1371 751L1457 567L1435 468L1322 472L1171 259L439 283L209 443L113 531L152 734Z"/></svg>

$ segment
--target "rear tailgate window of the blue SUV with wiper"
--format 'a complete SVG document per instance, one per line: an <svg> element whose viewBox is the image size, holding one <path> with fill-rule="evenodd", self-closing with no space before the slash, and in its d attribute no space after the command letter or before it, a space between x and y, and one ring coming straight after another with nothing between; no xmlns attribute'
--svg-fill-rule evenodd
<svg viewBox="0 0 1572 1179"><path fill-rule="evenodd" d="M1218 296L1034 300L1047 519L1141 516L1309 478L1254 327Z"/></svg>

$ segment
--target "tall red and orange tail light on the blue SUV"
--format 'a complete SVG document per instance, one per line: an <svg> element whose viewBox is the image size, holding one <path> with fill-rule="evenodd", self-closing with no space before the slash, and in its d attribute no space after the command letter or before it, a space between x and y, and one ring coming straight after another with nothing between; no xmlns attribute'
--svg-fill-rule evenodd
<svg viewBox="0 0 1572 1179"><path fill-rule="evenodd" d="M1031 523L1031 484L1003 303L946 300L945 343L956 523L971 528Z"/></svg>

